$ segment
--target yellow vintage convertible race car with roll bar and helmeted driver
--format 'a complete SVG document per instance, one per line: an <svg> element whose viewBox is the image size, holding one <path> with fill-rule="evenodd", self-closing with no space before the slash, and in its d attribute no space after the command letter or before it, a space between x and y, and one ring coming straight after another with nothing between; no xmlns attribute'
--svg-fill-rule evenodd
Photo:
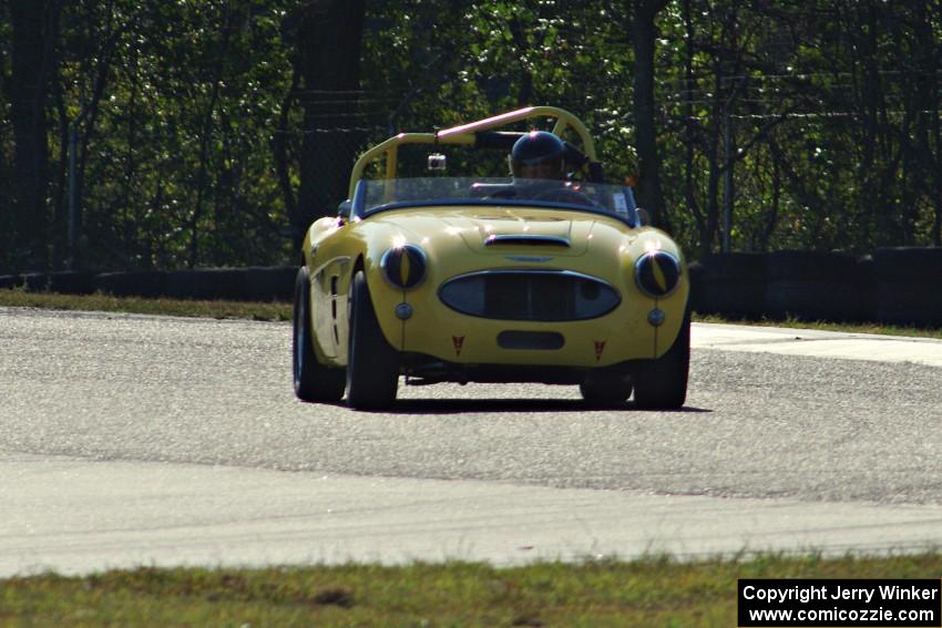
<svg viewBox="0 0 942 628"><path fill-rule="evenodd" d="M405 158L416 150L418 166ZM504 174L508 154L511 176L474 176ZM390 137L305 236L295 393L380 409L400 381L543 382L578 385L591 405L634 394L636 408L679 408L687 269L646 222L631 187L604 183L585 125L556 107Z"/></svg>

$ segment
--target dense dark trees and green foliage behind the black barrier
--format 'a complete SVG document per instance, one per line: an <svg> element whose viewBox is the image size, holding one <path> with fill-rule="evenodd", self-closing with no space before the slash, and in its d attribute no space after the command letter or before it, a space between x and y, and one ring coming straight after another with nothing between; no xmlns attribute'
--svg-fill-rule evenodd
<svg viewBox="0 0 942 628"><path fill-rule="evenodd" d="M940 246L941 39L934 2L0 0L0 270L291 261L366 143L522 104L694 256L724 206L734 250Z"/></svg>

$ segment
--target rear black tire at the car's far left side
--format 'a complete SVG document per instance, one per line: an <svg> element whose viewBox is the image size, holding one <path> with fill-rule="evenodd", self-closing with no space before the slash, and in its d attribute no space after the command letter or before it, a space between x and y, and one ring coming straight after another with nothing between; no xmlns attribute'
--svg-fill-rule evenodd
<svg viewBox="0 0 942 628"><path fill-rule="evenodd" d="M329 369L317 361L310 337L310 277L301 267L295 278L295 307L291 317L295 394L304 401L340 401L344 397L344 369Z"/></svg>

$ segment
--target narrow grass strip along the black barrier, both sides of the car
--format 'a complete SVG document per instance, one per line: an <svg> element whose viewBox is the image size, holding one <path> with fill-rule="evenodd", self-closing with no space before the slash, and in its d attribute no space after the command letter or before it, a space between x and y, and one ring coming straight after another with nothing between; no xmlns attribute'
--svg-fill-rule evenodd
<svg viewBox="0 0 942 628"><path fill-rule="evenodd" d="M85 310L129 312L161 316L186 316L204 318L242 318L252 320L290 320L291 303L253 303L236 301L197 301L181 299L117 298L109 295L58 295L54 292L29 292L21 288L0 289L0 307L44 308L57 310ZM882 333L942 339L942 328L893 327L878 323L808 322L798 319L759 321L731 320L717 316L695 315L698 322L723 322L766 327L792 327L822 329L856 333Z"/></svg>

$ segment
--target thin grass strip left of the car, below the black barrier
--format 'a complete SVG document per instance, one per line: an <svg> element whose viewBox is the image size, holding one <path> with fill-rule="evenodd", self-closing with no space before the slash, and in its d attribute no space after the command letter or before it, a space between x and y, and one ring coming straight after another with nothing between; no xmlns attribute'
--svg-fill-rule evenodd
<svg viewBox="0 0 942 628"><path fill-rule="evenodd" d="M0 290L0 307L52 310L125 312L202 318L249 320L291 320L291 303L199 301L183 299L141 299L111 295L59 295L30 292L21 288Z"/></svg>

